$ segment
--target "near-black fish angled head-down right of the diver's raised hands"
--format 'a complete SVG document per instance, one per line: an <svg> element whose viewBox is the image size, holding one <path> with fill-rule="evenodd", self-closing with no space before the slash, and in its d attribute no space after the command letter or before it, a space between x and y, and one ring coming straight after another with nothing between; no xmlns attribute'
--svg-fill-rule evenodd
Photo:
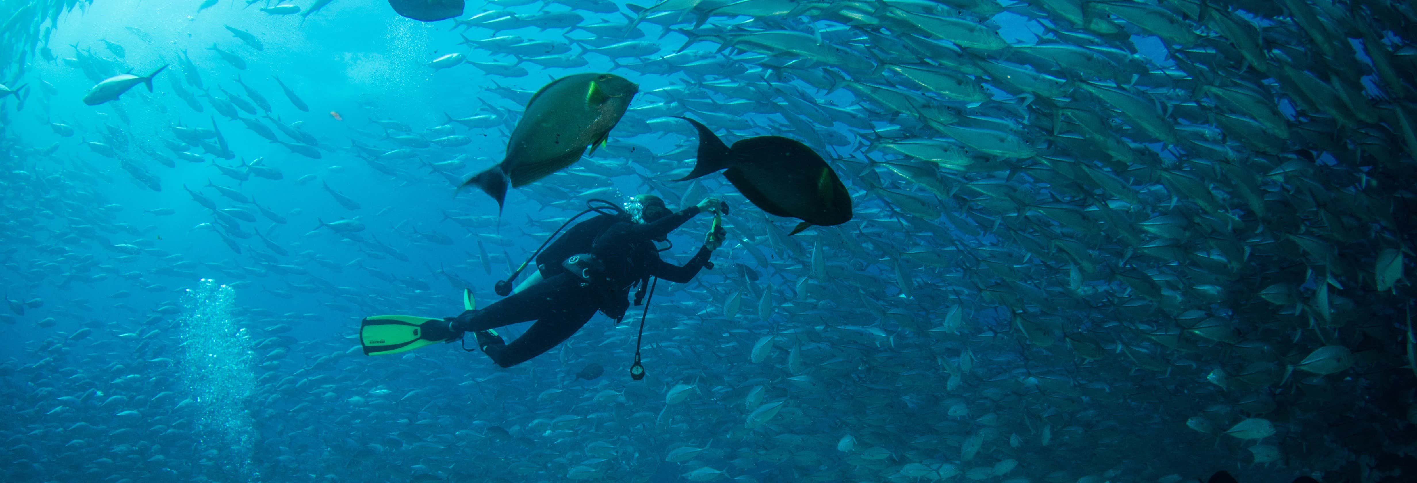
<svg viewBox="0 0 1417 483"><path fill-rule="evenodd" d="M676 116L677 118L677 116ZM778 217L802 220L789 235L811 225L840 225L852 220L852 195L816 152L782 136L748 137L728 147L703 123L699 129L699 161L674 181L687 181L726 170L723 176L748 201Z"/></svg>

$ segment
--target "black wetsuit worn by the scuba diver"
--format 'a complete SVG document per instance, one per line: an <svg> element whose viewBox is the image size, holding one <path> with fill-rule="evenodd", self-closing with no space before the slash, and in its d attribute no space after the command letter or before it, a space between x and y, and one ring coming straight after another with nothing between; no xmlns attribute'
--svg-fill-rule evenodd
<svg viewBox="0 0 1417 483"><path fill-rule="evenodd" d="M537 256L544 280L482 310L463 312L455 322L456 329L478 331L536 320L510 344L485 347L493 363L512 367L567 340L597 310L621 319L629 309L626 296L633 285L646 282L649 276L686 283L703 269L711 254L707 248L700 248L684 266L674 266L659 258L653 242L663 239L696 214L699 208L689 207L648 224L605 214L582 221ZM585 252L595 254L605 265L606 282L582 285L581 278L561 266L565 258Z"/></svg>

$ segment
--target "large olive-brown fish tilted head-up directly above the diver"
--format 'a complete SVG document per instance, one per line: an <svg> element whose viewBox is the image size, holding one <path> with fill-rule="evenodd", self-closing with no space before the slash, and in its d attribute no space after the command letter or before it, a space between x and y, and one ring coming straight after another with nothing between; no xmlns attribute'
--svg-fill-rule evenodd
<svg viewBox="0 0 1417 483"><path fill-rule="evenodd" d="M507 156L462 186L475 184L497 200L516 188L574 164L604 146L639 85L615 74L575 74L547 84L527 101L512 130Z"/></svg>

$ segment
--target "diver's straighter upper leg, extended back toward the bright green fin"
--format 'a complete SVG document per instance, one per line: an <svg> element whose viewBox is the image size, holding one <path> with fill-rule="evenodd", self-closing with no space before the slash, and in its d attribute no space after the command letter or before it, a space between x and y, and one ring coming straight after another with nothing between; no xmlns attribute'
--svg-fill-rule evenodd
<svg viewBox="0 0 1417 483"><path fill-rule="evenodd" d="M555 316L564 303L580 297L578 292L581 290L578 280L571 275L557 275L482 310L463 312L452 322L452 329L455 333L478 331L519 322L541 320Z"/></svg>

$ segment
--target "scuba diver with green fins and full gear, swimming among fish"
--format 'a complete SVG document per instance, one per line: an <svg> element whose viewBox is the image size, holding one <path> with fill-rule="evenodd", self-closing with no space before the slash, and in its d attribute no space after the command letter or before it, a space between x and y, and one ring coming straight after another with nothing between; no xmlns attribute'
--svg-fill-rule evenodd
<svg viewBox="0 0 1417 483"><path fill-rule="evenodd" d="M520 268L509 280L497 282L497 293L510 293L509 297L476 310L470 290L463 290L466 310L455 317L367 317L360 329L364 353L394 354L439 341L459 341L470 331L478 340L478 348L493 363L512 367L567 340L589 322L595 312L619 322L629 309L629 292L639 288L635 305L640 305L650 278L687 283L700 269L713 266L708 255L723 245L720 212L727 205L718 198L706 198L677 212L670 211L663 200L650 194L633 197L623 210L605 204L608 207L587 208L581 214L595 211L598 215L575 224L554 242L548 241L550 246L543 244L544 249L538 249L540 254L534 255L536 275L517 290L510 290L510 280L516 279ZM660 259L662 249L657 249L655 242L666 242L670 232L700 212L714 214L714 225L704 237L704 245L699 252L683 266ZM521 266L526 268L526 263ZM653 292L652 286L649 292ZM530 320L536 323L512 343L506 343L493 330ZM643 334L643 320L640 320L640 334ZM636 380L643 377L638 348L632 375Z"/></svg>

